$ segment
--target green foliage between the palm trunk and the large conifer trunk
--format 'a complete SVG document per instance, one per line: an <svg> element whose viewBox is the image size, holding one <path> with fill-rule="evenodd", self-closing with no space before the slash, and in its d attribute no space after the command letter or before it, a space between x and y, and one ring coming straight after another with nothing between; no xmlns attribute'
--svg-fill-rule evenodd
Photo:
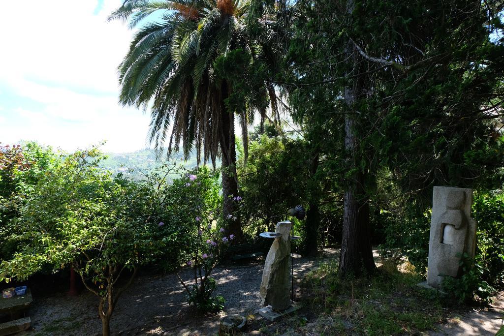
<svg viewBox="0 0 504 336"><path fill-rule="evenodd" d="M307 209L308 217L305 222L294 221L296 234L301 233L306 238L313 228L307 226L307 222L318 215L315 225L329 231L323 241L332 238L334 242L334 236L340 235L338 215L341 208L333 201L335 194L330 188L333 175L328 170L313 171L313 161L318 164L319 158L310 153L310 146L303 139L268 137L266 134L250 143L247 164L241 161L238 166L243 196L240 214L249 237L264 230L274 231L274 225L287 217L287 210L298 204ZM314 208L318 209L317 215L310 212ZM319 234L317 228L313 231Z"/></svg>

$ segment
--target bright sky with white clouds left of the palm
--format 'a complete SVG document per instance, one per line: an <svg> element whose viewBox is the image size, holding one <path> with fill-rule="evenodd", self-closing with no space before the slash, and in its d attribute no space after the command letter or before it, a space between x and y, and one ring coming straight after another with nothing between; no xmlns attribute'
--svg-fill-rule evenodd
<svg viewBox="0 0 504 336"><path fill-rule="evenodd" d="M106 141L102 149L115 153L147 146L148 113L117 103L117 65L133 32L106 17L121 3L2 4L0 143L74 151Z"/></svg>

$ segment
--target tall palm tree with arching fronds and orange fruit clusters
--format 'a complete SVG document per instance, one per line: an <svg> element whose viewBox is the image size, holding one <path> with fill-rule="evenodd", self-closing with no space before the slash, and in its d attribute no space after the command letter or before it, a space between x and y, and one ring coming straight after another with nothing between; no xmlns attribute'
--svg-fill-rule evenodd
<svg viewBox="0 0 504 336"><path fill-rule="evenodd" d="M236 0L126 0L109 17L138 28L118 68L120 103L150 109L149 141L158 153L169 138L168 155L182 144L186 158L196 147L198 164L202 152L203 162L211 160L214 167L220 157L223 214L237 237L242 231L232 199L238 195L235 115L245 157L255 112L263 121L270 104L278 115L275 90L260 79L268 76L258 75L271 69L271 48L252 37L251 10L257 13L257 6ZM255 20L254 36L267 24Z"/></svg>

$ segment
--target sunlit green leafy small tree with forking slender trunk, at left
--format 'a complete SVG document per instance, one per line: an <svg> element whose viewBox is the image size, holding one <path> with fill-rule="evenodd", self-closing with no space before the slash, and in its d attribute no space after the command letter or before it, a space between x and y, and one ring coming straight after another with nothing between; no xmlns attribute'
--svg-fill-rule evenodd
<svg viewBox="0 0 504 336"><path fill-rule="evenodd" d="M21 246L0 264L0 281L26 279L44 265L54 271L71 265L86 288L99 298L103 334L117 299L133 281L138 266L165 247L153 239L158 223L148 216L152 188L113 178L98 168L93 148L68 155L45 171L20 210L13 239ZM118 279L128 277L117 288Z"/></svg>

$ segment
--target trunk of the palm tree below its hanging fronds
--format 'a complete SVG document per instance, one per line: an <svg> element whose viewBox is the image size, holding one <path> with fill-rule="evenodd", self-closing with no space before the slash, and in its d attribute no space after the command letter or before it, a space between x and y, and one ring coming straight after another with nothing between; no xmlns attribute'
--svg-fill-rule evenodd
<svg viewBox="0 0 504 336"><path fill-rule="evenodd" d="M228 97L227 84L222 85L221 101L221 152L222 152L222 196L223 215L228 220L228 230L235 236L235 242L243 240L240 216L236 212L236 201L233 197L238 196L238 179L236 176L236 148L234 135L234 113L228 111L224 100ZM229 218L229 219L228 219Z"/></svg>

